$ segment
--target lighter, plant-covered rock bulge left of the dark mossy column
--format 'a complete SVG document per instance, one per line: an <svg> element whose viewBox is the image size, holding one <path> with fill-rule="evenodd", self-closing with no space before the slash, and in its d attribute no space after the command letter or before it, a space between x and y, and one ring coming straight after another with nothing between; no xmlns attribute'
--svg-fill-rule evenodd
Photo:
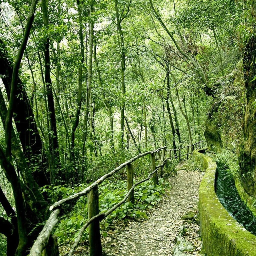
<svg viewBox="0 0 256 256"><path fill-rule="evenodd" d="M235 152L244 141L242 124L245 113L245 85L243 63L238 62L236 68L220 81L215 98L207 113L205 138L209 149L218 151L227 147Z"/></svg>

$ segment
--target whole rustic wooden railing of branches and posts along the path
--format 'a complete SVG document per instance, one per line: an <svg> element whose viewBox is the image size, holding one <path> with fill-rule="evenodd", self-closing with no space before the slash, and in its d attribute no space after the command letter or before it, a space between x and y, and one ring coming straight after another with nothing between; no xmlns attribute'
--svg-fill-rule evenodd
<svg viewBox="0 0 256 256"><path fill-rule="evenodd" d="M188 155L191 154L188 152L189 147L192 147L192 149L194 150L194 148L201 148L203 146L203 141L194 143L193 145L188 145L185 147L180 147L178 149L179 155L177 155L177 150L167 150L167 147L161 147L158 148L154 151L148 151L148 152L144 152L141 153L133 158L131 158L130 160L128 160L127 162L119 165L117 168L115 168L114 170L112 170L111 172L105 174L104 176L102 176L101 178L99 178L98 180L96 180L95 182L93 182L90 186L88 186L87 188L85 188L84 190L82 190L81 192L78 192L76 194L73 194L67 198L63 198L57 202L55 202L53 205L50 206L50 217L48 218L46 224L44 225L42 231L39 233L37 239L35 240L29 256L41 256L42 252L44 251L44 249L46 248L49 238L51 236L51 233L54 229L54 227L56 226L56 224L58 223L58 216L60 214L60 209L61 206L63 204L66 204L70 201L73 200L77 200L79 199L81 196L85 196L87 195L88 200L87 200L87 207L88 207L88 221L82 226L82 228L79 231L79 234L75 240L75 242L73 243L73 245L70 248L70 251L68 253L68 256L72 256L74 253L74 250L77 248L82 235L84 233L84 230L89 226L89 244L90 244L90 256L98 256L102 254L102 247L101 247L101 239L100 239L100 226L99 226L99 222L101 220L103 220L104 218L106 218L108 215L110 215L114 210L116 210L119 206L121 206L127 199L130 202L134 201L134 196L133 196L133 190L136 186L138 186L139 184L147 181L150 179L151 176L153 176L153 181L154 184L158 185L158 173L157 170L159 170L159 176L162 177L163 176L163 167L166 164L166 162L168 161L168 159L172 159L172 158L177 158L179 157L179 161L181 161L181 157L184 156L181 154L182 150L184 148L187 148L187 153L185 154L188 158ZM158 153L162 151L162 154L159 154L159 156L161 156L159 159L155 158L155 153ZM169 157L165 157L165 153L166 151L169 151ZM174 156L172 156L172 151L174 151ZM175 154L176 153L176 154ZM143 156L146 155L150 155L151 158L151 173L147 176L147 178L141 180L140 182L137 182L136 184L133 184L133 167L132 167L132 163L138 159L141 158ZM160 164L158 166L156 166L156 160L160 160ZM101 212L99 213L99 193L98 193L98 186L107 178L111 177L113 174L117 173L118 171L120 171L121 169L123 169L124 167L127 167L127 194L124 196L123 200L121 200L120 202L118 202L116 205L114 205L111 209L109 209L108 211L105 212Z"/></svg>

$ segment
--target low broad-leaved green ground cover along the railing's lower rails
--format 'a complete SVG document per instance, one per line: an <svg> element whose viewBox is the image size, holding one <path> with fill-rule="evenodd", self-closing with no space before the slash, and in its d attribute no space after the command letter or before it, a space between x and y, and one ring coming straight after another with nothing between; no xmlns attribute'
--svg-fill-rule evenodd
<svg viewBox="0 0 256 256"><path fill-rule="evenodd" d="M136 183L136 181L134 181ZM51 198L65 198L74 193L77 193L88 184L81 184L78 187L65 187L65 186L47 186L44 191L51 196ZM102 236L107 236L107 231L112 227L113 221L122 219L127 220L130 218L145 218L147 219L146 212L153 208L153 206L160 201L161 194L164 193L168 183L163 179L159 179L159 185L154 185L152 180L146 181L134 189L134 204L125 202L118 209L112 212L106 219L101 221ZM99 186L99 209L100 212L107 211L119 201L127 193L127 182L124 180L105 180ZM52 202L55 200L52 200ZM87 222L87 197L81 196L76 204L67 206L63 209L65 215L60 217L59 224L56 226L55 235L58 237L60 245L72 243L78 236L80 228ZM82 241L86 241L88 237L88 228L84 232Z"/></svg>

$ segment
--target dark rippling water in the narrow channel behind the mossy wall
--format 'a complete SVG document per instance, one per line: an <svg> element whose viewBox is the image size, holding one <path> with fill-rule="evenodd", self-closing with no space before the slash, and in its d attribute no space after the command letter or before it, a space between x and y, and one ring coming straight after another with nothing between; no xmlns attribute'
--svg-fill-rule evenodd
<svg viewBox="0 0 256 256"><path fill-rule="evenodd" d="M256 236L256 218L241 200L233 176L227 173L221 163L217 163L215 192L229 214Z"/></svg>

